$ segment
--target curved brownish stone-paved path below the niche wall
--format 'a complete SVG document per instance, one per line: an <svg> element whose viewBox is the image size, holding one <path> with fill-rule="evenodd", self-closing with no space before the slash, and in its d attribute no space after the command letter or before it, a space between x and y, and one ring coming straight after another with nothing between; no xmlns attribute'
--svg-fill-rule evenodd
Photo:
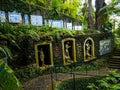
<svg viewBox="0 0 120 90"><path fill-rule="evenodd" d="M91 75L105 75L108 72L108 68L100 69L99 71L85 71L85 72L74 72L74 73L56 73L50 75L40 76L26 82L23 87L24 90L52 90L54 82L62 81L65 79L75 77L85 77Z"/></svg>

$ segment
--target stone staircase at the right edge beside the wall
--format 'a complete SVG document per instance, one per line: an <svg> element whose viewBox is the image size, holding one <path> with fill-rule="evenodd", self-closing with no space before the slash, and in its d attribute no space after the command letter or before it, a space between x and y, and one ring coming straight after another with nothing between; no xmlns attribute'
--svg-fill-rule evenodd
<svg viewBox="0 0 120 90"><path fill-rule="evenodd" d="M112 57L110 58L109 68L120 69L120 49L115 50Z"/></svg>

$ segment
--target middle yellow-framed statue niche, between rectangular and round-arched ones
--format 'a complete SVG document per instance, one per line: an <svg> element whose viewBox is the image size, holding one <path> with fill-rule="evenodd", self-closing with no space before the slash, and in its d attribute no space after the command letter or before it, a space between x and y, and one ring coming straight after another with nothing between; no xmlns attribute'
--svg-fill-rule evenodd
<svg viewBox="0 0 120 90"><path fill-rule="evenodd" d="M62 40L62 53L64 64L76 62L76 49L74 38L66 38Z"/></svg>

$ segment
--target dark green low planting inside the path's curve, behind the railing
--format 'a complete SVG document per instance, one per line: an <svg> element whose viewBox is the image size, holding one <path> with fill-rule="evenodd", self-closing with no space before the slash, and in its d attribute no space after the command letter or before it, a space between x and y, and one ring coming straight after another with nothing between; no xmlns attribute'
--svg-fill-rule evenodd
<svg viewBox="0 0 120 90"><path fill-rule="evenodd" d="M95 83L96 80L103 78L103 76L74 78L60 82L56 90L88 90L89 83Z"/></svg>

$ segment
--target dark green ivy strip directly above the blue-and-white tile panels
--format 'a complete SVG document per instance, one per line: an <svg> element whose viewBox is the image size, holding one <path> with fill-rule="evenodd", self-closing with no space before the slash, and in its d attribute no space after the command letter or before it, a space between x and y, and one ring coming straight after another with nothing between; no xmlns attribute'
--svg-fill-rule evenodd
<svg viewBox="0 0 120 90"><path fill-rule="evenodd" d="M20 12L22 14L32 14L33 12L39 11L40 14L45 18L54 18L51 17L52 15L49 15L51 12L51 9L45 8L43 6L30 4L28 2L22 1L22 0L0 0L0 11L16 11ZM79 22L76 18L73 18L69 15L61 14L59 18L68 18L69 20Z"/></svg>

